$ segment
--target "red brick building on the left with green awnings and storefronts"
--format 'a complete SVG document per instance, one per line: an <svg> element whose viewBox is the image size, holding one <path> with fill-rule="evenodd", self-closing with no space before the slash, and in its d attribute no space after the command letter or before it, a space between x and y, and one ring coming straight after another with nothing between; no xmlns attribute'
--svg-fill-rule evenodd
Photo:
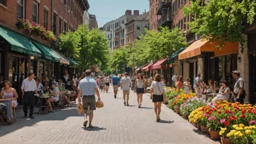
<svg viewBox="0 0 256 144"><path fill-rule="evenodd" d="M1 0L0 85L7 80L20 93L20 84L29 72L39 79L58 79L63 68L71 68L71 60L51 48L58 41L18 29L17 18L38 23L59 36L68 29L76 31L87 9L87 0ZM73 71L70 74L73 76Z"/></svg>

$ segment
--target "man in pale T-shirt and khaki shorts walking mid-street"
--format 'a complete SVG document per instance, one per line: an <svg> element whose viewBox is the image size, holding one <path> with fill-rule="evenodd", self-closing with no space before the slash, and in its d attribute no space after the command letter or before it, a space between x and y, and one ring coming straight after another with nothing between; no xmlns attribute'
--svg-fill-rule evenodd
<svg viewBox="0 0 256 144"><path fill-rule="evenodd" d="M129 89L131 87L131 79L128 77L128 73L124 73L124 77L121 79L121 89L123 89L123 94L124 94L124 105L129 105ZM125 102L125 96L127 103Z"/></svg>

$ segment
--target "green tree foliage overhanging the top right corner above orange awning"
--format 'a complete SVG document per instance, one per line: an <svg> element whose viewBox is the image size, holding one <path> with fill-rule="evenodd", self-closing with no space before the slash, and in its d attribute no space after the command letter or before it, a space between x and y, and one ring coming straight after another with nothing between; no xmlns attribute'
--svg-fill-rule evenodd
<svg viewBox="0 0 256 144"><path fill-rule="evenodd" d="M217 41L219 47L225 42L244 42L244 25L252 23L256 15L255 0L201 0L191 1L190 7L184 7L186 15L196 15L191 23L191 31L209 41Z"/></svg>

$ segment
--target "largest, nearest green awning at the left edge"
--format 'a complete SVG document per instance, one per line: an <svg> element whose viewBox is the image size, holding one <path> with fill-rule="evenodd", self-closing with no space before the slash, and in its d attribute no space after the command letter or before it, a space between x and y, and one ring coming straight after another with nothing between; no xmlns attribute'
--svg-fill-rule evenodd
<svg viewBox="0 0 256 144"><path fill-rule="evenodd" d="M0 36L2 36L5 40L12 44L12 50L17 52L23 52L28 55L33 55L36 57L41 57L41 52L36 48L35 45L28 41L25 36L15 33L14 31L10 31L7 28L0 26Z"/></svg>

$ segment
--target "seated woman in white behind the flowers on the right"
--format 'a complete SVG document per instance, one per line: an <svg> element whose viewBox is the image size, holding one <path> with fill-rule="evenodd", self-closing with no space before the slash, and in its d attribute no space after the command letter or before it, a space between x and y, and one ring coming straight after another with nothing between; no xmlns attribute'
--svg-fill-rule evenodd
<svg viewBox="0 0 256 144"><path fill-rule="evenodd" d="M227 81L223 81L222 86L223 87L220 87L219 95L214 97L212 99L212 102L215 102L215 100L221 100L221 99L228 100L228 98L230 97L231 89L229 89L229 87L227 86Z"/></svg>

